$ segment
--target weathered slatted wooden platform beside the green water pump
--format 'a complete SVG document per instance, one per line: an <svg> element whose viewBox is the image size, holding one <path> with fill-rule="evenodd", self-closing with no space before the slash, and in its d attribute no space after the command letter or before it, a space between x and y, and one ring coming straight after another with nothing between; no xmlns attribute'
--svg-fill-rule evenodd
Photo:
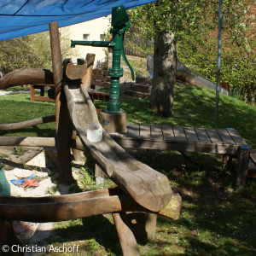
<svg viewBox="0 0 256 256"><path fill-rule="evenodd" d="M203 152L237 156L236 187L246 182L250 148L233 128L206 129L157 125L127 125L125 133L110 134L124 148Z"/></svg>

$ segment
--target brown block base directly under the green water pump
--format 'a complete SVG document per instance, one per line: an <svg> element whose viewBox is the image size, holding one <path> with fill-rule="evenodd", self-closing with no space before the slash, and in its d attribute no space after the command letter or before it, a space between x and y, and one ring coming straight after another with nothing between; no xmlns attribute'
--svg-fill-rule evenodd
<svg viewBox="0 0 256 256"><path fill-rule="evenodd" d="M126 112L124 113L100 113L100 122L107 132L125 132Z"/></svg>

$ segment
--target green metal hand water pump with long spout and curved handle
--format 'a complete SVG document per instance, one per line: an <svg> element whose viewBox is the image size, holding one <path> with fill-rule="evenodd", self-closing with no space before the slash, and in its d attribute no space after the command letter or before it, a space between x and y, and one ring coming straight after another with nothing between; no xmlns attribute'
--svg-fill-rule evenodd
<svg viewBox="0 0 256 256"><path fill-rule="evenodd" d="M123 68L120 67L121 55L125 64L131 70L131 77L134 80L134 72L127 61L124 51L124 38L125 31L131 26L131 21L123 5L112 9L112 29L113 35L110 41L71 41L71 47L75 45L90 45L96 47L108 47L113 49L113 62L112 67L109 68L108 75L111 77L110 97L108 108L103 109L108 113L122 113L124 110L120 108L119 102L119 79L123 76Z"/></svg>

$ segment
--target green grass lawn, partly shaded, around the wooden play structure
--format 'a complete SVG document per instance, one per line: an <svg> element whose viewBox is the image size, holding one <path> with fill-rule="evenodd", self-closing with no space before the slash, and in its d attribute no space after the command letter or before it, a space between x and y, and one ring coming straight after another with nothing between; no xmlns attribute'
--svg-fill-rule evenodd
<svg viewBox="0 0 256 256"><path fill-rule="evenodd" d="M122 108L129 123L145 125L214 126L215 93L189 84L177 84L174 115L162 119L148 109L148 99L123 99ZM106 102L96 102L103 108ZM0 97L0 122L11 123L55 113L50 102L30 102L29 95ZM228 96L220 96L219 128L234 127L251 148L256 148L256 108ZM55 136L55 124L36 125L19 131L1 131L1 136ZM256 182L247 179L247 188L236 193L233 182L236 160L224 166L216 154L129 149L137 160L169 178L183 198L181 218L172 221L158 217L154 236L138 240L142 255L255 255ZM197 164L196 164L197 163ZM93 165L80 172L82 190L96 189L91 177ZM107 180L106 186L113 183ZM76 184L73 191L77 192ZM86 241L84 241L86 240ZM55 246L79 245L73 255L120 255L119 240L111 216L79 218L56 224L49 237ZM68 253L67 253L68 254ZM57 255L57 253L56 253ZM63 253L59 254L63 255ZM64 254L65 255L65 254ZM68 254L70 255L70 254Z"/></svg>

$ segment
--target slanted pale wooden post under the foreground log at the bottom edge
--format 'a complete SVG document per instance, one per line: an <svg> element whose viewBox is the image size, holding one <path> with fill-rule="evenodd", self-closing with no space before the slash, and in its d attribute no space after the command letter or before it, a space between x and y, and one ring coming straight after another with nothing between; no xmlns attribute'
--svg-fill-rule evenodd
<svg viewBox="0 0 256 256"><path fill-rule="evenodd" d="M119 236L119 242L124 256L140 255L137 241L129 227L125 212L113 213L113 221Z"/></svg>

